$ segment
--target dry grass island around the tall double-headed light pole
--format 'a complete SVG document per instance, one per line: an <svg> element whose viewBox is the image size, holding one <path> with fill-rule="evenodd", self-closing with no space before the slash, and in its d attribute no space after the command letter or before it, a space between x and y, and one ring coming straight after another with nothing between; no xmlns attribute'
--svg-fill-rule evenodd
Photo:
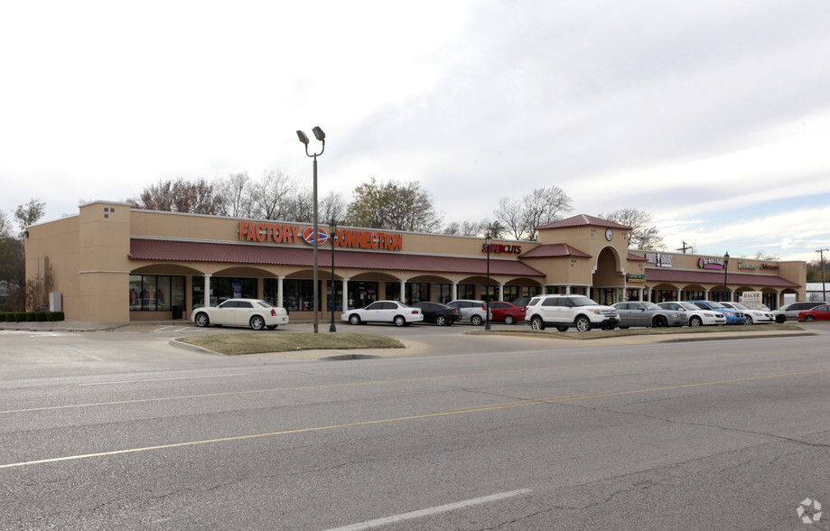
<svg viewBox="0 0 830 531"><path fill-rule="evenodd" d="M262 354L289 350L318 349L403 349L404 344L394 338L350 332L284 333L275 331L216 334L179 338L178 341L210 349L228 356Z"/></svg>

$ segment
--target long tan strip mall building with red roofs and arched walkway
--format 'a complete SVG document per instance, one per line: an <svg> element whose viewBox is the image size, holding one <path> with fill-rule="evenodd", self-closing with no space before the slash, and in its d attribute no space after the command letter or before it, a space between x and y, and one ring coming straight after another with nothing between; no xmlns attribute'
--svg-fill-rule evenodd
<svg viewBox="0 0 830 531"><path fill-rule="evenodd" d="M538 229L538 241L321 227L319 311L375 300L406 303L581 293L600 303L738 300L762 292L777 308L805 298L807 265L629 249L629 228L580 215ZM326 238L323 241L323 238ZM256 297L297 319L313 315L312 228L293 222L131 209L96 201L34 225L26 276L47 272L68 319L189 318L193 308ZM332 247L333 243L333 247ZM332 256L333 251L333 256ZM331 286L333 259L334 292ZM489 268L488 268L489 264ZM724 293L724 284L726 293ZM53 296L52 303L59 297Z"/></svg>

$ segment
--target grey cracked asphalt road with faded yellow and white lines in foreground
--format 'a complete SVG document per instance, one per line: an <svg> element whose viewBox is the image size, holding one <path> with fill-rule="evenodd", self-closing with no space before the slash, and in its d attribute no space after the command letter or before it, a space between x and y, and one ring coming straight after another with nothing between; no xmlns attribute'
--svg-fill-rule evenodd
<svg viewBox="0 0 830 531"><path fill-rule="evenodd" d="M800 529L830 503L825 333L381 330L419 355L0 332L0 528Z"/></svg>

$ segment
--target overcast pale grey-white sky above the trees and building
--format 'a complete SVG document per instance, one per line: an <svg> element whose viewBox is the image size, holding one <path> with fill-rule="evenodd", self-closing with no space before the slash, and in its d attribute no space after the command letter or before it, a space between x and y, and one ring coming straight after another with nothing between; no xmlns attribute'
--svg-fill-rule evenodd
<svg viewBox="0 0 830 531"><path fill-rule="evenodd" d="M4 2L0 210L160 180L418 181L444 220L556 185L667 249L830 246L825 0ZM312 139L311 147L315 146Z"/></svg>

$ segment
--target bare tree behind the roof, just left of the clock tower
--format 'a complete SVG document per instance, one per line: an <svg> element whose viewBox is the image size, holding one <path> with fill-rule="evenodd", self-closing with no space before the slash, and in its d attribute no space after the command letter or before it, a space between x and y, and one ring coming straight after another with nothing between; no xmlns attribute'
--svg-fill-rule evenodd
<svg viewBox="0 0 830 531"><path fill-rule="evenodd" d="M536 188L521 200L499 199L496 220L516 239L536 239L536 228L563 219L574 210L572 199L558 186Z"/></svg>

